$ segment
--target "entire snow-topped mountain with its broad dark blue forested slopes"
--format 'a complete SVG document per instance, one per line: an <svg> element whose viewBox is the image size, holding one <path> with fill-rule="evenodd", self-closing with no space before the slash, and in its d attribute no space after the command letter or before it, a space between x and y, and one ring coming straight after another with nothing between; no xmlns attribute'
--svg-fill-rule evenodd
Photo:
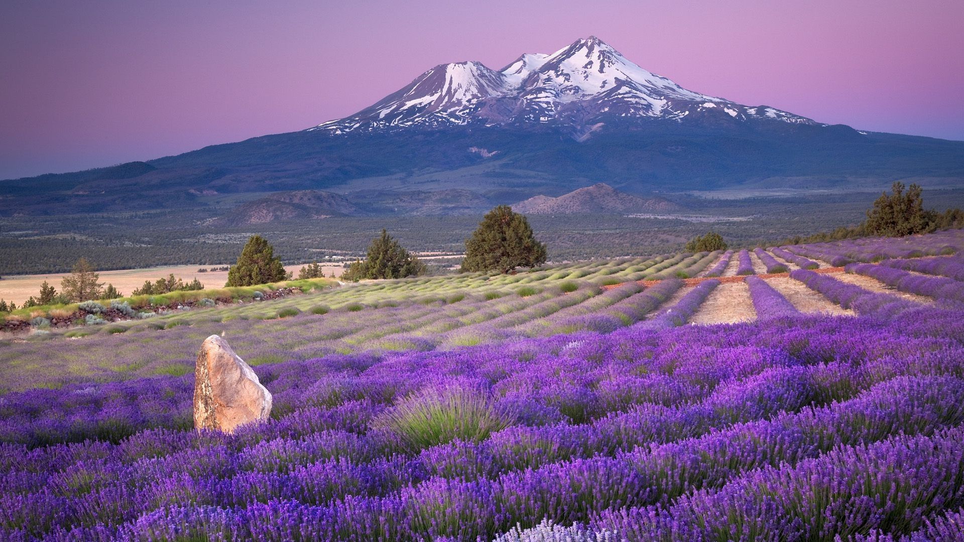
<svg viewBox="0 0 964 542"><path fill-rule="evenodd" d="M861 132L696 93L588 38L498 70L442 65L307 130L0 181L0 216L161 208L220 216L219 202L244 200L236 194L303 190L348 195L369 212L450 214L599 181L649 197L877 189L903 179L961 186L964 142ZM301 212L269 203L279 216Z"/></svg>

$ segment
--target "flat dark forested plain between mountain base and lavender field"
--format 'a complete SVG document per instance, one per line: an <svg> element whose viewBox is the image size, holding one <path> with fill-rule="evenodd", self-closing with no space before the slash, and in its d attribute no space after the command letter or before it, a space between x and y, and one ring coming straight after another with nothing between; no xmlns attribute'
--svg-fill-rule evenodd
<svg viewBox="0 0 964 542"><path fill-rule="evenodd" d="M749 220L688 222L617 215L531 216L549 260L646 256L683 250L694 235L714 230L731 247L774 243L794 236L852 227L879 193L747 200L683 200L681 214ZM964 190L924 191L928 207L964 206ZM271 223L216 229L199 211L0 218L0 276L70 270L87 257L99 270L233 262L248 235L259 233L285 264L358 257L383 229L414 252L461 253L481 216L327 218L310 224Z"/></svg>

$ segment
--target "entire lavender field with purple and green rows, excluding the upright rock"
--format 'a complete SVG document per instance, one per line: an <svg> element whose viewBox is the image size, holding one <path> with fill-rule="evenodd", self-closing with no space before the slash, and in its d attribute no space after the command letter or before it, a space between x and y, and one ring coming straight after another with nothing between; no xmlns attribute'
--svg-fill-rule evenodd
<svg viewBox="0 0 964 542"><path fill-rule="evenodd" d="M32 328L0 340L0 539L960 539L961 251L949 230ZM215 334L271 420L193 429Z"/></svg>

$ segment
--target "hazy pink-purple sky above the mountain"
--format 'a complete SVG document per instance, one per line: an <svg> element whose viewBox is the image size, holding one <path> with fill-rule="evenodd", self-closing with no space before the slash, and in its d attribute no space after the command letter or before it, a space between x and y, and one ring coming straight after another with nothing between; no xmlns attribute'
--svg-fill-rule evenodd
<svg viewBox="0 0 964 542"><path fill-rule="evenodd" d="M589 35L694 91L964 140L962 26L961 0L4 0L0 178L307 128Z"/></svg>

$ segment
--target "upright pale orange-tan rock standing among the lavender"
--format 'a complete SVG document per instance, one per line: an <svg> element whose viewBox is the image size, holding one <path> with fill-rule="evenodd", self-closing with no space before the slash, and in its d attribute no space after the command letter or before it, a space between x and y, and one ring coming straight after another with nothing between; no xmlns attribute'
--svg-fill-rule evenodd
<svg viewBox="0 0 964 542"><path fill-rule="evenodd" d="M228 341L204 339L194 369L194 426L231 433L242 423L267 420L271 393Z"/></svg>

